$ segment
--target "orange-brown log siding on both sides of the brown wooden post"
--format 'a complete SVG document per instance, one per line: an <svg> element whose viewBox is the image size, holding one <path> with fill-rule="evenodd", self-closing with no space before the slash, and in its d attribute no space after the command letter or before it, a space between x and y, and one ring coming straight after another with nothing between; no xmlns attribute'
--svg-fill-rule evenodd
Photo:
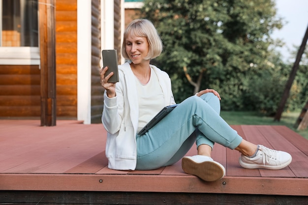
<svg viewBox="0 0 308 205"><path fill-rule="evenodd" d="M57 117L77 118L77 0L56 1ZM0 65L0 117L40 117L38 65Z"/></svg>

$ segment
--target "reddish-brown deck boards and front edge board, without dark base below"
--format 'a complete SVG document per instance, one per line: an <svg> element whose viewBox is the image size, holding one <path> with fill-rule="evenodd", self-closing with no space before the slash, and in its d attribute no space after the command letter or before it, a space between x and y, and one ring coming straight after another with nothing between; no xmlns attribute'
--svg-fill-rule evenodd
<svg viewBox="0 0 308 205"><path fill-rule="evenodd" d="M3 127L10 128L2 132ZM0 123L0 190L308 196L306 139L285 127L232 127L248 141L290 152L292 163L278 171L247 170L238 163L238 151L216 144L212 157L226 168L226 176L216 182L186 175L181 160L153 171L111 170L104 151L106 131L101 124L60 120L55 127L40 127L38 120L4 120ZM186 155L196 153L194 145Z"/></svg>

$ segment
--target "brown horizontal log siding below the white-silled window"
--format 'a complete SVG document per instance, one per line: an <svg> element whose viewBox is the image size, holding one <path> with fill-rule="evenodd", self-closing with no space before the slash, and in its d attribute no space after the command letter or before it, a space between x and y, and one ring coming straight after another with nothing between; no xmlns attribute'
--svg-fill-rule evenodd
<svg viewBox="0 0 308 205"><path fill-rule="evenodd" d="M0 117L39 116L38 65L0 65Z"/></svg>

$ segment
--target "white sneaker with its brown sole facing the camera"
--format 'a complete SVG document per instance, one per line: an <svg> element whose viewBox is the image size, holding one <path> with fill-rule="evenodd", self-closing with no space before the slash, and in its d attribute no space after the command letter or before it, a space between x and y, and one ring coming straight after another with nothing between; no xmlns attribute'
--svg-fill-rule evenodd
<svg viewBox="0 0 308 205"><path fill-rule="evenodd" d="M198 176L205 181L219 180L226 173L221 164L203 155L183 157L182 169L186 174Z"/></svg>

